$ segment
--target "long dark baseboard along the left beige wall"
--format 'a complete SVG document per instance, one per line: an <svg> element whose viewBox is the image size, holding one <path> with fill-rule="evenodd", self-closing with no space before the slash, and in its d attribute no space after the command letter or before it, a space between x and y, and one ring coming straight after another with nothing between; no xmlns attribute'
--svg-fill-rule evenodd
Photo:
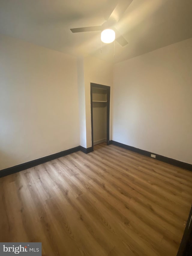
<svg viewBox="0 0 192 256"><path fill-rule="evenodd" d="M9 168L0 170L0 177L7 176L9 174L13 174L13 173L17 173L17 172L29 169L36 165L46 163L48 161L51 161L53 159L56 159L56 158L59 158L59 157L65 156L65 155L69 155L69 154L77 152L79 150L80 150L80 146L77 146L72 149L67 149L67 150L52 154L52 155L47 155L47 156L23 163L23 164L18 164L13 167L9 167Z"/></svg>

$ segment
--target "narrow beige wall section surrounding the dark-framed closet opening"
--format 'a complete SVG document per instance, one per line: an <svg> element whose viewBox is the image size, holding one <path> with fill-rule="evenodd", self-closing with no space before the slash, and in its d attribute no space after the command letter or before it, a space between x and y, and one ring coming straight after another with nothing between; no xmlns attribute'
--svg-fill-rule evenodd
<svg viewBox="0 0 192 256"><path fill-rule="evenodd" d="M86 141L91 147L91 94L90 83L111 86L110 98L110 139L112 134L112 96L113 96L113 66L109 62L94 57L84 59L85 107L86 107Z"/></svg>

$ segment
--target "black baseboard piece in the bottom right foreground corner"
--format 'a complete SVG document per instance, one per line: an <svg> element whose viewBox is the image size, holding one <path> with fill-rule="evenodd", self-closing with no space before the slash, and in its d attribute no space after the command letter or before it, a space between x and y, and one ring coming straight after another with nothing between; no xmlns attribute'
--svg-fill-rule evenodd
<svg viewBox="0 0 192 256"><path fill-rule="evenodd" d="M187 224L184 230L184 234L179 246L179 250L177 252L177 256L187 256L187 255L191 255L191 248L192 248L192 206L191 206L191 210L189 213L189 217L187 220Z"/></svg>

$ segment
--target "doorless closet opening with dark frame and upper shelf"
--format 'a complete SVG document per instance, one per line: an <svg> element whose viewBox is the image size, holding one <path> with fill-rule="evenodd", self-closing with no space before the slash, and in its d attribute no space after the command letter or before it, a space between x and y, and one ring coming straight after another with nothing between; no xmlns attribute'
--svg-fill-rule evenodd
<svg viewBox="0 0 192 256"><path fill-rule="evenodd" d="M110 86L91 83L92 149L100 143L109 145Z"/></svg>

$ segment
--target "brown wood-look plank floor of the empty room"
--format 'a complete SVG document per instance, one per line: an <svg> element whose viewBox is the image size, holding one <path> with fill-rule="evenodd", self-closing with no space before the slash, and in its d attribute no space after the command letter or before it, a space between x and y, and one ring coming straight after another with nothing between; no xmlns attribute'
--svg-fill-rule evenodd
<svg viewBox="0 0 192 256"><path fill-rule="evenodd" d="M0 242L43 255L176 256L192 172L105 143L0 179Z"/></svg>

